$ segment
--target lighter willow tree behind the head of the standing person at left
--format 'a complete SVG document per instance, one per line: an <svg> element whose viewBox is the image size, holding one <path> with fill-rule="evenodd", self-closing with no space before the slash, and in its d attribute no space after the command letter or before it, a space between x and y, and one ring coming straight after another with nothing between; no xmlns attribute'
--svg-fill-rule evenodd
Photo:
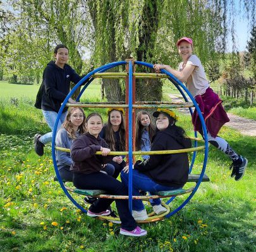
<svg viewBox="0 0 256 252"><path fill-rule="evenodd" d="M23 33L30 34L30 40L39 45L42 45L39 38L44 41L43 47L38 47L38 61L46 55L47 60L51 59L49 52L53 55L55 45L63 43L70 50L71 66L81 74L82 54L88 46L87 34L90 29L90 19L82 1L13 0L12 3L19 14L20 23L25 26Z"/></svg>

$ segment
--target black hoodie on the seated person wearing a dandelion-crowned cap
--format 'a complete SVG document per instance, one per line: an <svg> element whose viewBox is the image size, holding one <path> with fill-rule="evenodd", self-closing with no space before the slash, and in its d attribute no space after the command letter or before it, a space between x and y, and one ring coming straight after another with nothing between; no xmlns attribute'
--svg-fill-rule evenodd
<svg viewBox="0 0 256 252"><path fill-rule="evenodd" d="M174 127L168 127L156 132L151 151L186 149L191 146L190 139L177 136ZM180 188L188 181L188 154L150 155L148 161L137 161L134 168L160 185Z"/></svg>

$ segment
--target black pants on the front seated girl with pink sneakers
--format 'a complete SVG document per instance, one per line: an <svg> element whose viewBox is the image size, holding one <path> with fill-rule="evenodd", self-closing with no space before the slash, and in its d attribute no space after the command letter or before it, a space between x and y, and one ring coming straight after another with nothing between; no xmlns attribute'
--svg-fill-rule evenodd
<svg viewBox="0 0 256 252"><path fill-rule="evenodd" d="M111 195L128 195L128 190L120 181L101 172L90 173L73 173L73 184L79 189L88 190L106 190ZM90 206L89 210L95 213L105 211L113 202L113 199L99 198L97 202ZM132 231L137 227L129 208L128 200L116 200L116 208L121 220L121 227Z"/></svg>

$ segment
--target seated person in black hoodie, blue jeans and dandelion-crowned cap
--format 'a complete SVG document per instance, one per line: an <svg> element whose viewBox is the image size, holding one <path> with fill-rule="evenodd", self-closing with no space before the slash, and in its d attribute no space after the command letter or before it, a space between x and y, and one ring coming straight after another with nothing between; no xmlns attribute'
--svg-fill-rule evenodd
<svg viewBox="0 0 256 252"><path fill-rule="evenodd" d="M150 151L187 149L191 140L185 137L185 131L175 125L176 117L172 110L159 108L153 113L157 118L157 130L152 139ZM133 195L146 192L168 191L182 188L188 180L188 154L150 155L147 161L137 161L133 170ZM121 180L128 186L128 166L121 173ZM150 200L155 214L166 212L159 198ZM142 200L133 200L133 217L137 221L148 218Z"/></svg>

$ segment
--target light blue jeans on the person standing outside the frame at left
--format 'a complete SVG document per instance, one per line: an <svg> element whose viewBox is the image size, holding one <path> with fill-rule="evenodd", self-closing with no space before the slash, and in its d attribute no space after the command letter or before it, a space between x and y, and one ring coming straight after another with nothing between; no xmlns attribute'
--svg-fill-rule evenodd
<svg viewBox="0 0 256 252"><path fill-rule="evenodd" d="M44 118L46 119L48 126L53 131L58 113L54 111L46 111L46 110L42 110L42 113L44 115ZM61 114L60 120L58 122L57 130L61 127L61 124L64 122L67 113L68 112L64 112ZM40 142L42 142L43 144L47 144L48 142L51 142L51 140L52 140L52 132L48 132L44 135L41 135L40 137Z"/></svg>

